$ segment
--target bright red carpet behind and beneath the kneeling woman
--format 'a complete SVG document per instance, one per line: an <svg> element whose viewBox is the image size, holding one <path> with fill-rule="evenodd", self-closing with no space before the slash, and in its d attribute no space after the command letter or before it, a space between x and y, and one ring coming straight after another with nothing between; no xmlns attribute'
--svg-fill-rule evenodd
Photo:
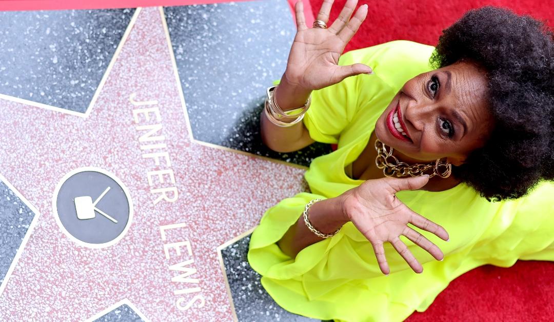
<svg viewBox="0 0 554 322"><path fill-rule="evenodd" d="M314 16L322 0L310 0ZM336 0L331 21L345 0ZM531 14L554 26L550 1L360 1L369 5L368 18L346 50L397 39L437 44L442 30L470 8L493 4ZM511 268L491 265L461 275L424 313L408 321L554 321L554 263L517 262Z"/></svg>

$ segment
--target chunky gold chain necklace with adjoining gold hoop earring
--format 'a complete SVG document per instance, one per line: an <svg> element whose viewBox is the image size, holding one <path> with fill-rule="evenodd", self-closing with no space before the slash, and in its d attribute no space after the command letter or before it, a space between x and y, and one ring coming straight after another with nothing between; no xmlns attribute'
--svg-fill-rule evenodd
<svg viewBox="0 0 554 322"><path fill-rule="evenodd" d="M383 142L378 139L375 140L375 150L377 151L375 165L379 169L383 169L383 173L386 177L417 177L427 174L429 178L435 175L441 178L448 178L452 173L452 165L448 163L448 161L440 161L440 159L428 165L421 163L409 165L406 162L401 162L397 157L392 155L394 151L392 147L384 145Z"/></svg>

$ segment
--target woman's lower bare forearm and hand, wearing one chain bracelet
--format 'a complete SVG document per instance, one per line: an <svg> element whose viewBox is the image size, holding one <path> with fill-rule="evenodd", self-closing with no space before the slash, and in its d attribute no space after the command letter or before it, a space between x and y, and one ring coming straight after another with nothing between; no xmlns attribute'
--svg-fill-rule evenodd
<svg viewBox="0 0 554 322"><path fill-rule="evenodd" d="M442 251L429 239L409 227L408 223L432 232L445 241L448 240L448 233L443 227L409 209L396 198L396 193L402 190L417 190L428 180L428 176L368 180L336 198L314 203L308 211L308 217L312 226L323 233L331 233L351 221L372 244L379 268L384 274L389 273L383 248L385 242L392 244L414 272L421 273L422 265L399 236L405 236L435 259L441 260L444 257ZM277 244L283 253L295 257L302 249L321 240L306 227L304 219L300 216Z"/></svg>

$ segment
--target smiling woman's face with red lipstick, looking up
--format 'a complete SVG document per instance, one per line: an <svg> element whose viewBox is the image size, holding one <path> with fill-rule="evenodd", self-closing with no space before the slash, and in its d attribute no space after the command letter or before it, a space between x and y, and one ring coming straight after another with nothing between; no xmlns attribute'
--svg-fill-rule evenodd
<svg viewBox="0 0 554 322"><path fill-rule="evenodd" d="M486 88L483 70L471 63L458 62L420 74L394 96L379 116L375 134L402 161L447 157L448 162L460 165L485 144L494 126Z"/></svg>

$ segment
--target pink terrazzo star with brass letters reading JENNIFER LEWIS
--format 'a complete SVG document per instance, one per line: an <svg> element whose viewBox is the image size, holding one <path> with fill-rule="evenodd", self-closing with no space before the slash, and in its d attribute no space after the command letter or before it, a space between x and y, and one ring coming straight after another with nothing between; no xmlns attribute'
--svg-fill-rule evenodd
<svg viewBox="0 0 554 322"><path fill-rule="evenodd" d="M233 319L216 248L301 191L304 171L196 144L175 73L160 11L146 8L88 117L0 101L0 171L41 214L0 294L0 320L84 320L123 299L152 321ZM161 121L151 124L162 125L167 147L159 151L171 165L143 157L131 94L157 101L149 106ZM84 166L114 173L130 190L134 218L114 246L79 246L55 222L55 186ZM151 189L159 187L149 185L147 172L165 169L175 174L178 198L154 204ZM170 224L181 225L163 240L160 226ZM180 244L166 246L166 258L170 243ZM172 282L183 272L170 265L180 262L196 272Z"/></svg>

